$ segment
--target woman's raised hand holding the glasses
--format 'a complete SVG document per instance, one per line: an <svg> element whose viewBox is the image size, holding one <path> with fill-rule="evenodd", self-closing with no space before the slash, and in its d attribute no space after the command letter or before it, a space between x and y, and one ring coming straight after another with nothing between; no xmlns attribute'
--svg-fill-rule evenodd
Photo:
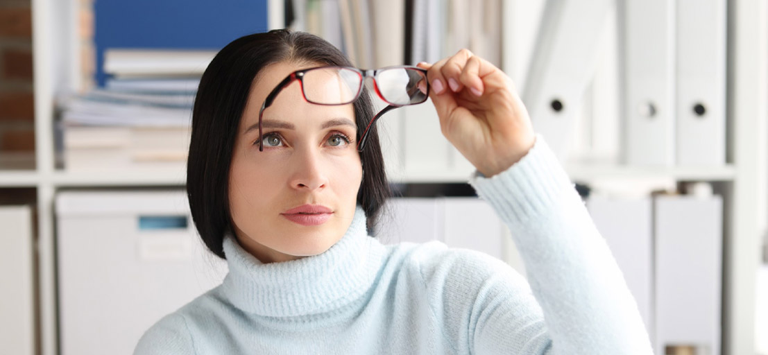
<svg viewBox="0 0 768 355"><path fill-rule="evenodd" d="M480 173L494 176L518 162L535 142L528 111L511 79L462 49L428 69L442 134Z"/></svg>

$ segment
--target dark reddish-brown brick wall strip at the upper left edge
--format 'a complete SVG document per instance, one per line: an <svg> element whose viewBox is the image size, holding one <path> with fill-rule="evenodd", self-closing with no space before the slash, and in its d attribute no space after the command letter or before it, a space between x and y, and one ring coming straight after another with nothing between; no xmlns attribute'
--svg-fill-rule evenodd
<svg viewBox="0 0 768 355"><path fill-rule="evenodd" d="M0 0L0 154L35 150L30 0Z"/></svg>

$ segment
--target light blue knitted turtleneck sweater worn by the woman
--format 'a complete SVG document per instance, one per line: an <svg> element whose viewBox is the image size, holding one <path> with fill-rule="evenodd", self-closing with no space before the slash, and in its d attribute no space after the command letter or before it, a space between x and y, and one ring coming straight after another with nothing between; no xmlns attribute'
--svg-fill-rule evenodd
<svg viewBox="0 0 768 355"><path fill-rule="evenodd" d="M511 228L530 287L475 251L382 245L358 209L336 245L296 261L262 264L226 238L223 284L158 321L135 354L652 353L621 271L541 136L505 172L470 183Z"/></svg>

